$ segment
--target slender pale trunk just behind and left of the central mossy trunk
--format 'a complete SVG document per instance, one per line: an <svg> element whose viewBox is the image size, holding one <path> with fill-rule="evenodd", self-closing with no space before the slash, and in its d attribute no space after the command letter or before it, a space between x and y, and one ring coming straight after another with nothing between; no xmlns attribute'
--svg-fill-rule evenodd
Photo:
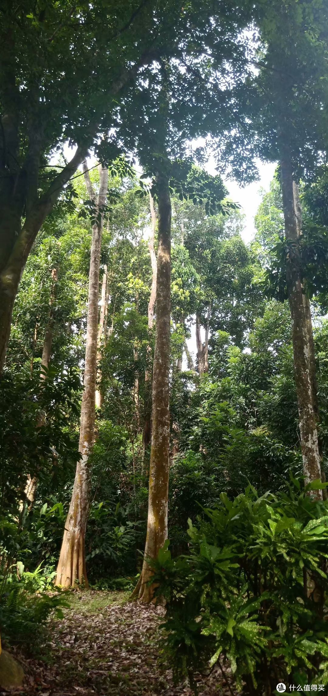
<svg viewBox="0 0 328 696"><path fill-rule="evenodd" d="M151 234L149 236L148 248L151 261L151 291L148 303L148 329L154 326L154 308L156 302L156 281L157 281L157 261L156 253L154 248L155 242L155 232L156 232L156 212L154 208L154 200L149 193L149 205L151 214ZM147 345L147 354L150 356L151 347ZM141 473L142 476L145 475L145 452L149 447L151 439L151 374L148 370L145 370L145 415L144 424L142 429L142 465Z"/></svg>

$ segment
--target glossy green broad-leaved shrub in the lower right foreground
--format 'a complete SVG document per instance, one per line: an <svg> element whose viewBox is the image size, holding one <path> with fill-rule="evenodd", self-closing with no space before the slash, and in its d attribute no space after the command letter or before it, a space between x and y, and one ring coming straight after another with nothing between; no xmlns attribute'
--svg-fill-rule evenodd
<svg viewBox="0 0 328 696"><path fill-rule="evenodd" d="M228 659L238 689L328 681L327 504L300 493L221 493L189 521L190 553L154 564L167 604L166 650L178 677Z"/></svg>

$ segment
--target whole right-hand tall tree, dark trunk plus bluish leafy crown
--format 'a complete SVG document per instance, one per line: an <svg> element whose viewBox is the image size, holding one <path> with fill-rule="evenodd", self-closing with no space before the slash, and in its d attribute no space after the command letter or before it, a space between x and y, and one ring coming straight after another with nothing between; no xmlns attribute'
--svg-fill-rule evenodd
<svg viewBox="0 0 328 696"><path fill-rule="evenodd" d="M309 13L309 3L295 0L287 0L282 11L279 3L269 6L261 2L254 5L254 10L261 38L256 61L260 70L256 75L249 75L239 90L237 132L231 136L224 154L239 177L243 177L240 157L244 160L244 171L247 167L247 171L254 172L254 155L280 163L286 242L284 267L293 328L304 478L309 482L320 478L318 413L313 393L313 337L309 304L304 301L293 182L313 175L327 152L325 109L322 109L322 104L328 102L327 79L322 80L322 75L327 76L327 36L322 31L327 12L325 3L319 2ZM236 139L241 142L242 132L246 147L237 152ZM321 491L316 495L320 498Z"/></svg>

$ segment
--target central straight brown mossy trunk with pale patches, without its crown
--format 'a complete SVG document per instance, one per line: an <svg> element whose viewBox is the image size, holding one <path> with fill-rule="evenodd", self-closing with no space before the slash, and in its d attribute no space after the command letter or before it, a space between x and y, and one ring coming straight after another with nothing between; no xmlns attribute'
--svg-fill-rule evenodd
<svg viewBox="0 0 328 696"><path fill-rule="evenodd" d="M154 588L147 585L151 568L147 558L156 558L167 539L167 496L170 454L170 283L171 200L167 177L158 175L158 253L156 283L156 340L152 390L152 434L145 560L136 595L151 601Z"/></svg>

